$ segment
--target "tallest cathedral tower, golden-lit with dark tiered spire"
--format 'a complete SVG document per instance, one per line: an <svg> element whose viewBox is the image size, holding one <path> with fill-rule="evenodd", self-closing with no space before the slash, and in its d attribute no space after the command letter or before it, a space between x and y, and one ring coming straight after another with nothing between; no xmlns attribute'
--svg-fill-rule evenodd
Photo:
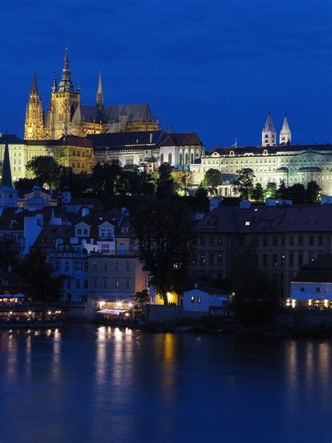
<svg viewBox="0 0 332 443"><path fill-rule="evenodd" d="M80 102L80 90L75 92L74 84L71 81L68 50L66 48L59 88L57 88L56 77L53 79L50 97L50 139L60 139L64 135L75 132L71 128L71 120Z"/></svg>

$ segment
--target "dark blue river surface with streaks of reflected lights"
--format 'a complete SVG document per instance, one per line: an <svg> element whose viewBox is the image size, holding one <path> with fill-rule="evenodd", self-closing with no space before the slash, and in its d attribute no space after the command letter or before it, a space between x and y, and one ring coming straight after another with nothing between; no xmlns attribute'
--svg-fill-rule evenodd
<svg viewBox="0 0 332 443"><path fill-rule="evenodd" d="M0 330L0 442L326 442L332 341Z"/></svg>

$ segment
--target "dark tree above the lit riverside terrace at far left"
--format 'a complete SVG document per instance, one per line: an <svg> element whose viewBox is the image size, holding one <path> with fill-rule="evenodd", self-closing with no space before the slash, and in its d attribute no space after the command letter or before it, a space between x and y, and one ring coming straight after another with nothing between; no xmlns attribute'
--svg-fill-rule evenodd
<svg viewBox="0 0 332 443"><path fill-rule="evenodd" d="M18 273L32 285L35 300L53 302L60 299L64 275L53 277L53 267L46 261L41 248L30 250L20 261Z"/></svg>

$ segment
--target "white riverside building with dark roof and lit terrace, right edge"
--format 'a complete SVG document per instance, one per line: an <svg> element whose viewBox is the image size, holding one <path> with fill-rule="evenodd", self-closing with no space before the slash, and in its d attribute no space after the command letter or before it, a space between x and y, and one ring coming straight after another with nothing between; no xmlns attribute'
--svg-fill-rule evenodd
<svg viewBox="0 0 332 443"><path fill-rule="evenodd" d="M322 254L300 267L291 281L291 297L286 306L292 308L332 308L332 254Z"/></svg>

